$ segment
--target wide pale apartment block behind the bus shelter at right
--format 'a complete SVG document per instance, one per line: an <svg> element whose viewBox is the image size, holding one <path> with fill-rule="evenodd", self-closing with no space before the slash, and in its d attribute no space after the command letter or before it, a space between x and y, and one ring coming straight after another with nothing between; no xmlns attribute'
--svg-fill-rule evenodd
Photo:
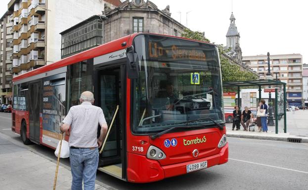
<svg viewBox="0 0 308 190"><path fill-rule="evenodd" d="M303 57L301 54L281 54L269 56L270 72L273 78L287 83L289 105L303 106ZM267 56L244 56L243 63L258 72L260 79L266 78Z"/></svg>

